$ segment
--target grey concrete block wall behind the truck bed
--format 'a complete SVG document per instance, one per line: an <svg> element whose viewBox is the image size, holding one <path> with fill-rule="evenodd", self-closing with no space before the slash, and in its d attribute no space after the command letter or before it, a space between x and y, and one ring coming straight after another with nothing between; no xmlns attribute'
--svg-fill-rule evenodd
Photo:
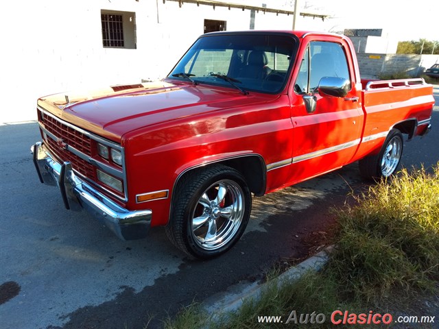
<svg viewBox="0 0 439 329"><path fill-rule="evenodd" d="M438 55L402 55L357 53L359 71L364 77L377 77L381 73L407 73L418 77L431 65L439 63Z"/></svg>

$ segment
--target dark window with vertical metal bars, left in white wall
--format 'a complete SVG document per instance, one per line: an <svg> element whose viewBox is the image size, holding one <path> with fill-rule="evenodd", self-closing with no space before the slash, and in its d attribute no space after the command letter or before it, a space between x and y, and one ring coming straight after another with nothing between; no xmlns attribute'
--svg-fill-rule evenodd
<svg viewBox="0 0 439 329"><path fill-rule="evenodd" d="M102 45L104 47L125 47L123 40L123 16L119 14L101 14Z"/></svg>

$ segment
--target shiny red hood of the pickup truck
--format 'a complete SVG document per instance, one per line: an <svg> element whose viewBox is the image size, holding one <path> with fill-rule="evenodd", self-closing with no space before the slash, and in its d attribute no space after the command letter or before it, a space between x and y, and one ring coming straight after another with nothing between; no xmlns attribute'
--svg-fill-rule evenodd
<svg viewBox="0 0 439 329"><path fill-rule="evenodd" d="M141 127L277 97L161 81L49 95L38 99L38 106L64 121L120 143L123 134Z"/></svg>

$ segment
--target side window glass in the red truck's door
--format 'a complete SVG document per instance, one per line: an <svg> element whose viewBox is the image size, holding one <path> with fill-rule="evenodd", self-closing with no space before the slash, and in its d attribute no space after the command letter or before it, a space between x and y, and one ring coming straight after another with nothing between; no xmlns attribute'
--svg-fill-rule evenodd
<svg viewBox="0 0 439 329"><path fill-rule="evenodd" d="M294 90L296 93L311 93L322 77L343 77L350 80L346 54L340 44L310 42L302 59Z"/></svg>

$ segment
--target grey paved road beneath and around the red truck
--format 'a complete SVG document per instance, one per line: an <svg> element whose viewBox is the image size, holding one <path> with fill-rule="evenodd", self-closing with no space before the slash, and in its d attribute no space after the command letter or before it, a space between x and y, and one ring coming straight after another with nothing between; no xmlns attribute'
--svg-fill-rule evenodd
<svg viewBox="0 0 439 329"><path fill-rule="evenodd" d="M439 104L439 87L435 93ZM427 137L406 143L403 166L438 162L439 107L432 124ZM0 295L15 296L0 303L5 329L141 328L150 315L158 328L182 305L305 255L307 234L320 234L348 184L361 184L352 164L257 198L243 239L199 262L174 249L161 228L123 242L86 212L64 210L57 189L36 177L29 145L38 140L36 123L0 126Z"/></svg>

